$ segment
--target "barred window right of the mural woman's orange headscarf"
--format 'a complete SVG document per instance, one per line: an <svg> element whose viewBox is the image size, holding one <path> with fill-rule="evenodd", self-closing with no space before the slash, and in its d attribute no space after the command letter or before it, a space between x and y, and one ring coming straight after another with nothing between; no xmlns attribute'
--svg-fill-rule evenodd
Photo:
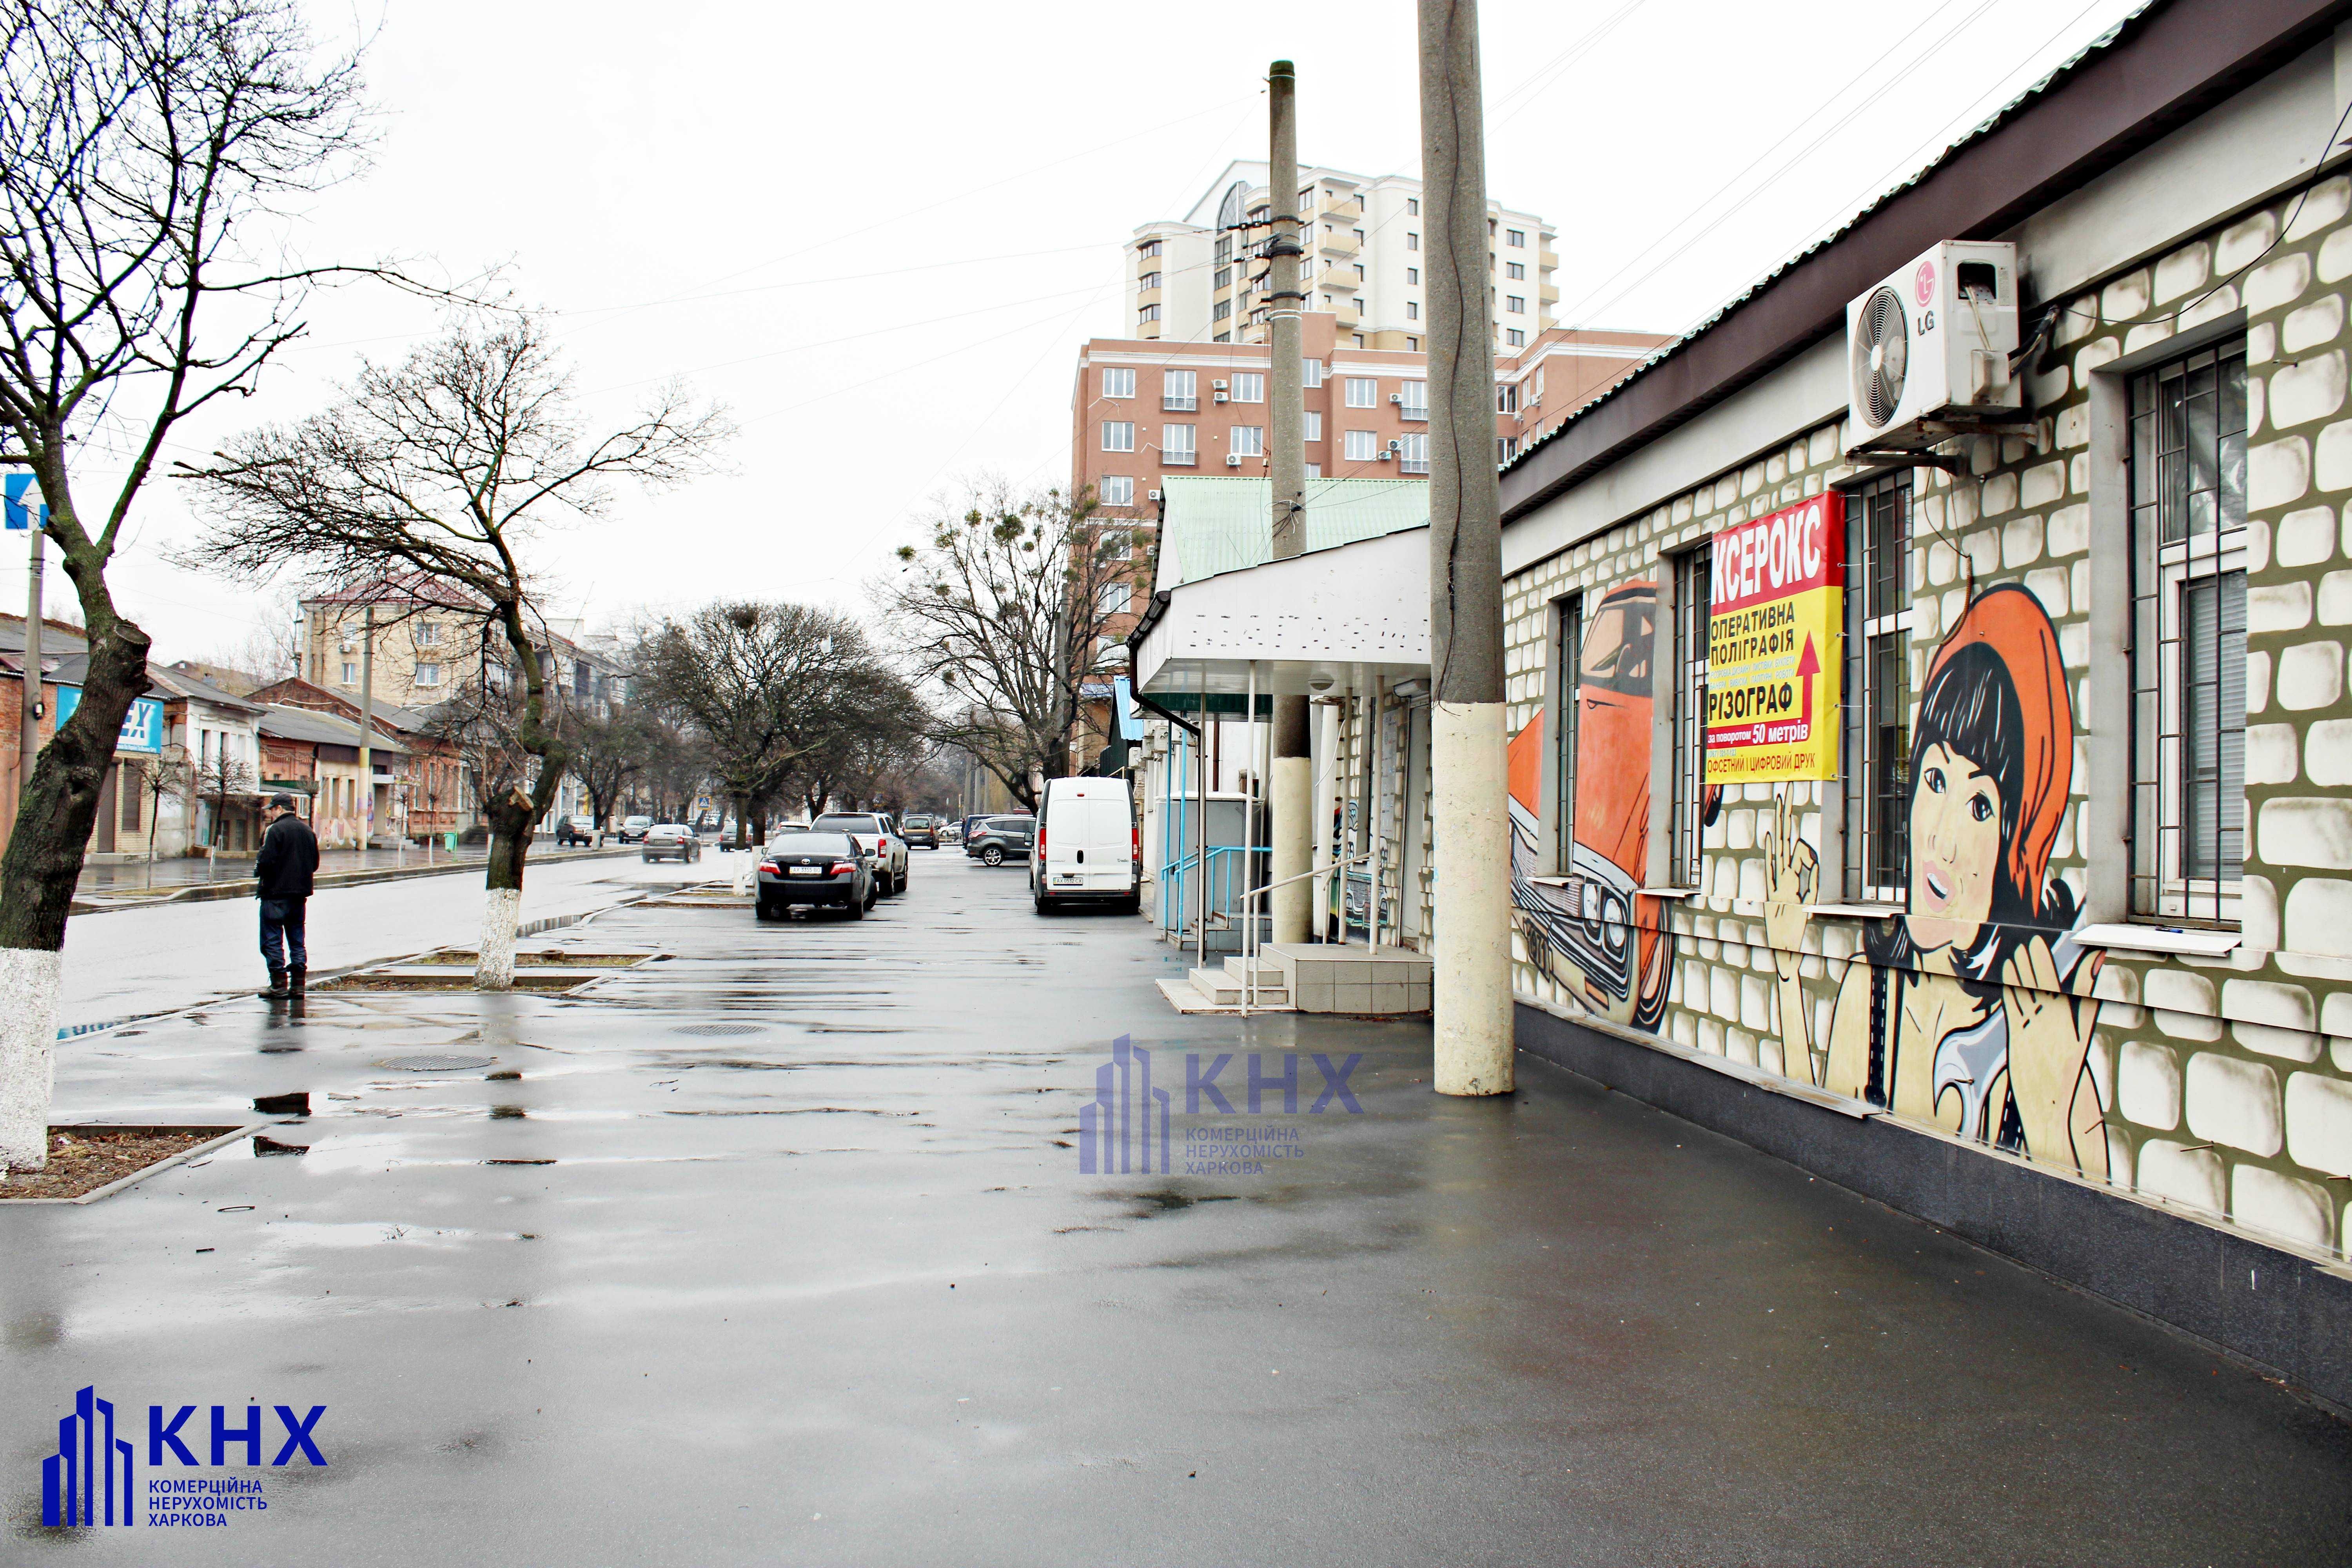
<svg viewBox="0 0 2352 1568"><path fill-rule="evenodd" d="M2234 924L2246 853L2246 346L2131 378L2131 912Z"/></svg>

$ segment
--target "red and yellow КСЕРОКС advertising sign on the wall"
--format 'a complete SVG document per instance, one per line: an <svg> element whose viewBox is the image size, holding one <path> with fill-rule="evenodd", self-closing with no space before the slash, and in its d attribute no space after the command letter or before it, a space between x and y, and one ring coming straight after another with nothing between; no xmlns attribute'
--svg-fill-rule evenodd
<svg viewBox="0 0 2352 1568"><path fill-rule="evenodd" d="M1715 536L1708 783L1837 778L1844 557L1839 491Z"/></svg>

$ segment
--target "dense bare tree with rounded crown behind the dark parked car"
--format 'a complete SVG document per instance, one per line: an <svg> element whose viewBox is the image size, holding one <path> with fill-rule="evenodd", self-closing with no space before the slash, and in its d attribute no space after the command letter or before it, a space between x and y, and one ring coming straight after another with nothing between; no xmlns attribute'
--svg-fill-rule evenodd
<svg viewBox="0 0 2352 1568"><path fill-rule="evenodd" d="M642 686L710 748L710 771L734 802L736 844L753 818L858 715L887 677L856 621L807 604L710 604L668 621L647 642Z"/></svg>

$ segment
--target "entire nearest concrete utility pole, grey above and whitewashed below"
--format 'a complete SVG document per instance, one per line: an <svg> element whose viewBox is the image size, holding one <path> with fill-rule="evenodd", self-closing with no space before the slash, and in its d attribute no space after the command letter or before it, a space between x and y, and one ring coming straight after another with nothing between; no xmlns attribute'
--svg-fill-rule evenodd
<svg viewBox="0 0 2352 1568"><path fill-rule="evenodd" d="M1421 2L1430 292L1430 806L1437 1093L1512 1088L1503 527L1494 477L1477 0Z"/></svg>

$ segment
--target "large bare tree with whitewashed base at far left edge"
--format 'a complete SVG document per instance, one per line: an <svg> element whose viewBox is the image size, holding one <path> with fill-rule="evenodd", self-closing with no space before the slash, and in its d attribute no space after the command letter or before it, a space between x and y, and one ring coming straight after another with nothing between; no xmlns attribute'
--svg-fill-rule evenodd
<svg viewBox="0 0 2352 1568"><path fill-rule="evenodd" d="M249 393L310 284L268 226L350 167L355 56L296 0L40 0L0 19L0 461L49 508L89 670L0 858L0 1164L47 1159L66 914L99 780L146 691L108 567L183 418ZM92 480L85 489L82 480Z"/></svg>

